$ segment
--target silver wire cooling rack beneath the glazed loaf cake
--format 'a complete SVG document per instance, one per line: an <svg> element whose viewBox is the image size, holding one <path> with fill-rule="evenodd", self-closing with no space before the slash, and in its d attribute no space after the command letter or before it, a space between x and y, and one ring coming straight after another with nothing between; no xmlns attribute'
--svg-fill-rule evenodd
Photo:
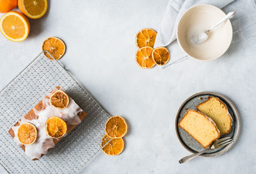
<svg viewBox="0 0 256 174"><path fill-rule="evenodd" d="M32 161L8 130L56 86L88 116L40 160ZM8 173L78 173L100 151L109 116L58 61L41 52L0 91L0 164Z"/></svg>

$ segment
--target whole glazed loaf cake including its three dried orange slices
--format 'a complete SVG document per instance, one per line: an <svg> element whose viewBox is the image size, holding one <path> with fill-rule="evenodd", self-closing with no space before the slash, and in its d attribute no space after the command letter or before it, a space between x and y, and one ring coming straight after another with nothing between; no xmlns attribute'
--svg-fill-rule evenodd
<svg viewBox="0 0 256 174"><path fill-rule="evenodd" d="M86 117L76 102L57 86L9 130L33 160L40 159Z"/></svg>

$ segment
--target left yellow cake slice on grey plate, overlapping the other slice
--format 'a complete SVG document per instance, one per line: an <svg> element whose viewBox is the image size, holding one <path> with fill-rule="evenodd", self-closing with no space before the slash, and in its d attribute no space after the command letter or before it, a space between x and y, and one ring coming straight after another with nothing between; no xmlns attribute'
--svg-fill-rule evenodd
<svg viewBox="0 0 256 174"><path fill-rule="evenodd" d="M185 113L179 122L179 127L188 132L204 148L220 138L220 131L211 118L192 109Z"/></svg>

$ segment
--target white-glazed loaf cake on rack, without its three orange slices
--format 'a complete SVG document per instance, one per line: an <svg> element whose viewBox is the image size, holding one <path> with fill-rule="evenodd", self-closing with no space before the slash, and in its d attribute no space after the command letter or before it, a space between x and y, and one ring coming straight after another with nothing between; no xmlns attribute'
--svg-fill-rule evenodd
<svg viewBox="0 0 256 174"><path fill-rule="evenodd" d="M10 136L19 144L25 151L26 155L33 160L40 159L51 148L53 148L61 138L51 138L47 136L45 131L45 122L47 118L51 116L58 116L67 123L67 134L72 131L76 125L87 116L86 113L79 107L76 102L69 97L68 106L64 109L57 109L50 104L51 95L58 90L62 90L60 86L57 86L51 91L44 99L42 99L35 107L33 107L23 118L21 118L13 127L9 130ZM63 91L63 90L62 90ZM35 143L31 145L22 145L17 138L17 130L19 125L29 122L33 123L37 129L37 138ZM66 135L67 135L66 134Z"/></svg>

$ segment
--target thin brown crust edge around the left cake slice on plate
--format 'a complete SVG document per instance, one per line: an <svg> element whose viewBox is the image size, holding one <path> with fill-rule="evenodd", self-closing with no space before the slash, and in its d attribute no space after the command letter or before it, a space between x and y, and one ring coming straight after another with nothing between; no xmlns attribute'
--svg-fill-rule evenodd
<svg viewBox="0 0 256 174"><path fill-rule="evenodd" d="M182 125L180 125L180 123L182 122L182 120L186 117L186 115L189 114L190 111L196 112L196 113L198 113L198 114L204 116L205 118L207 118L207 119L209 120L209 122L211 122L212 125L214 125L216 132L218 132L218 137L215 138L215 139L212 139L212 141L211 141L210 143L208 143L208 145L203 145L203 144L199 141L199 139L195 138L195 136L193 136L192 134L190 134L190 132L189 132L188 130L186 130L184 127L182 127ZM198 112L198 111L196 111L196 110L194 110L194 109L189 109L188 111L186 111L186 113L184 114L184 116L183 116L182 119L180 120L178 126L179 126L180 128L182 128L184 131L186 131L190 136L192 136L192 137L193 137L200 145L202 145L204 148L207 148L207 147L210 146L214 141L216 141L218 138L220 138L220 131L218 130L216 124L211 120L211 118L209 118L208 116L204 115L204 113L200 113L200 112Z"/></svg>

